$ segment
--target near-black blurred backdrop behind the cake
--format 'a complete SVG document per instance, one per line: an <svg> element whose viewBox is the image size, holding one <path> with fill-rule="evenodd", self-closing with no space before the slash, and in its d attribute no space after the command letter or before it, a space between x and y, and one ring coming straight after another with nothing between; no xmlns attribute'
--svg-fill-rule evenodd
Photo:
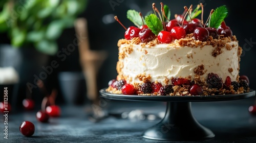
<svg viewBox="0 0 256 143"><path fill-rule="evenodd" d="M219 6L226 5L229 10L229 15L225 19L226 25L230 27L233 35L237 36L239 44L243 49L241 57L240 75L248 76L250 87L256 89L256 76L254 75L254 66L256 63L256 36L255 36L255 12L253 11L253 1L127 1L127 0L110 0L110 1L89 1L87 8L79 17L87 18L89 28L90 48L92 50L106 50L108 58L104 61L98 74L98 88L108 86L108 82L115 79L117 76L116 62L118 61L117 42L120 38L124 38L125 30L115 21L114 16L117 15L125 27L134 26L133 23L126 18L126 11L135 9L145 15L148 11L152 11L152 3L156 3L160 10L160 2L168 5L170 8L171 19L175 14L182 14L184 6L196 6L202 3L204 5L204 21L207 19L211 9L216 9ZM201 18L201 15L198 17ZM67 48L75 39L74 28L63 31L58 39L59 50ZM1 35L0 42L6 43L8 38L6 35ZM254 42L255 41L255 42ZM249 42L249 43L248 43ZM67 59L61 61L56 55L52 56L52 60L57 60L59 67L55 68L53 74L49 75L46 83L49 89L59 88L58 74L62 71L81 71L79 62L79 52L76 49ZM84 90L86 87L84 86ZM63 102L62 93L59 92L58 101ZM40 100L39 100L40 101Z"/></svg>

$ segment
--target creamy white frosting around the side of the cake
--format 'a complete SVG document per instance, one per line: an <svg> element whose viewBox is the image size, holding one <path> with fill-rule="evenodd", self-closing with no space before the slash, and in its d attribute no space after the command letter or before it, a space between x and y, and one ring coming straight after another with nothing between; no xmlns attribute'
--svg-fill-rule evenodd
<svg viewBox="0 0 256 143"><path fill-rule="evenodd" d="M218 74L225 82L229 76L231 81L237 81L239 75L239 45L238 41L228 43L232 46L231 50L222 48L222 53L216 57L212 56L215 47L204 45L203 47L181 47L178 44L156 44L154 46L132 44L131 53L123 50L131 44L121 44L119 53L125 53L124 58L119 57L122 63L121 72L123 77L127 77L128 83L143 83L138 79L139 74L150 75L151 82L160 82L166 85L166 79L169 79L168 85L172 85L172 78L194 79L194 69L199 65L204 65L204 74L201 78L207 79L208 73ZM232 69L232 72L230 70Z"/></svg>

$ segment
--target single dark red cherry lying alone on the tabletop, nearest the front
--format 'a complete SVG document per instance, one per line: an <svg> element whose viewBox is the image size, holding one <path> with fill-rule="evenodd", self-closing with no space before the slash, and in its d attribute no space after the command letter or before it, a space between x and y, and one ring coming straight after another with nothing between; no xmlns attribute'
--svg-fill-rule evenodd
<svg viewBox="0 0 256 143"><path fill-rule="evenodd" d="M35 132L35 126L33 123L29 121L24 121L20 126L19 126L19 131L25 135L25 136L31 136Z"/></svg>

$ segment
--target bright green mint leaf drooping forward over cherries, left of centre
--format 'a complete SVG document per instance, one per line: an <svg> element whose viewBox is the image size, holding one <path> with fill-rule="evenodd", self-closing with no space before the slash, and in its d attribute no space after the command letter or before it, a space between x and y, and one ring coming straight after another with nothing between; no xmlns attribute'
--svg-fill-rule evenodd
<svg viewBox="0 0 256 143"><path fill-rule="evenodd" d="M151 14L145 17L147 27L152 30L155 35L158 35L160 31L163 30L163 25L161 20L155 15Z"/></svg>

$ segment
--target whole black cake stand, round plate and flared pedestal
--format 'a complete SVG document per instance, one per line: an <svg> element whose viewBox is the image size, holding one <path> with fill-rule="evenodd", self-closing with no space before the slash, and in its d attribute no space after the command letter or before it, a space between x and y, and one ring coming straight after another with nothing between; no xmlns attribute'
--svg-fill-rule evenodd
<svg viewBox="0 0 256 143"><path fill-rule="evenodd" d="M167 102L165 116L161 122L148 128L143 137L156 140L205 140L215 134L202 126L191 113L191 102L239 100L255 95L255 90L241 94L218 96L138 96L112 94L101 89L100 96L113 100Z"/></svg>

